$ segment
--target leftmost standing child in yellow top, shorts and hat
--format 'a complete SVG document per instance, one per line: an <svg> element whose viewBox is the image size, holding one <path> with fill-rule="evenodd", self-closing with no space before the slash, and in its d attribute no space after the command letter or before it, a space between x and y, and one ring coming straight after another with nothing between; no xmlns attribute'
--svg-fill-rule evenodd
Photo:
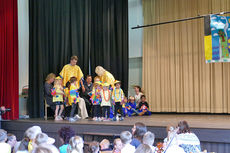
<svg viewBox="0 0 230 153"><path fill-rule="evenodd" d="M54 88L52 89L53 102L56 105L55 120L63 120L61 117L62 111L64 110L63 95L62 79L58 76L55 78Z"/></svg>

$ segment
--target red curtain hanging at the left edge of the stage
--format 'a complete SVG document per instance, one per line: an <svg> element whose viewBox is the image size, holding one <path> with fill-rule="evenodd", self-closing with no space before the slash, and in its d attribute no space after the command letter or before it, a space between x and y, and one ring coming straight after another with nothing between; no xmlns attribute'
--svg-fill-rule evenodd
<svg viewBox="0 0 230 153"><path fill-rule="evenodd" d="M0 106L11 108L5 119L18 119L17 0L0 0Z"/></svg>

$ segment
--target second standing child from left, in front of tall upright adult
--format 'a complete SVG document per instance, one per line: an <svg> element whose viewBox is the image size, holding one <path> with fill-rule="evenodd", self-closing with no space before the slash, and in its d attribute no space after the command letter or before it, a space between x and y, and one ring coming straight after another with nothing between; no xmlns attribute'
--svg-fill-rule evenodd
<svg viewBox="0 0 230 153"><path fill-rule="evenodd" d="M69 118L70 122L74 122L79 118L78 115L74 117L75 110L78 110L78 103L80 101L79 92L78 92L78 88L76 84L77 84L77 78L71 77L70 78L70 88L69 88L69 95L70 95L69 98L70 99L68 99L69 104L72 105L71 112L70 112L70 118Z"/></svg>

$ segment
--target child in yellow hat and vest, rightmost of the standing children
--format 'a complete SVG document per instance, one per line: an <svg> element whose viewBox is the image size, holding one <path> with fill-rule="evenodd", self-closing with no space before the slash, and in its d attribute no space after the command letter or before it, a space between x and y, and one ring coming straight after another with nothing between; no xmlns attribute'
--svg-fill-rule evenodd
<svg viewBox="0 0 230 153"><path fill-rule="evenodd" d="M121 82L120 81L115 81L114 85L115 85L115 88L113 90L112 99L115 102L115 112L114 112L113 120L114 121L117 120L116 116L117 116L117 113L118 113L118 110L119 110L120 113L121 113L120 120L122 121L122 120L124 120L124 115L123 115L123 111L122 111L121 102L124 100L124 92L121 89Z"/></svg>

